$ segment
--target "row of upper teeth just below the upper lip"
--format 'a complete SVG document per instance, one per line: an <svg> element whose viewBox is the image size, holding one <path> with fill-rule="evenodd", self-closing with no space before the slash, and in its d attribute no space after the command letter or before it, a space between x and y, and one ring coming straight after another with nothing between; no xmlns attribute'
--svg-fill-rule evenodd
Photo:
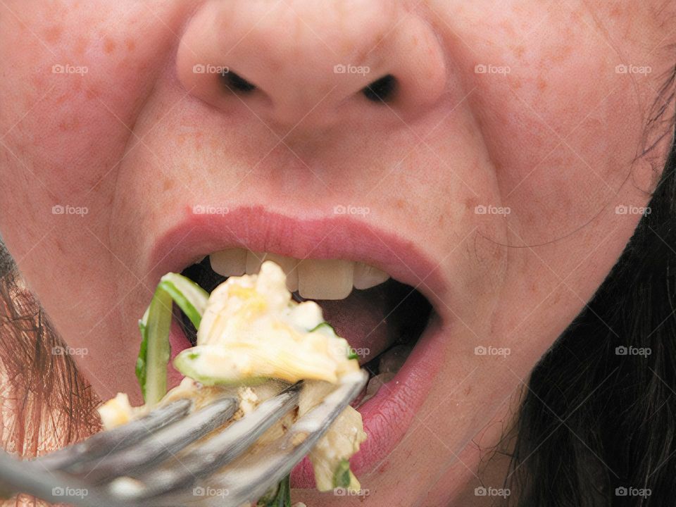
<svg viewBox="0 0 676 507"><path fill-rule="evenodd" d="M355 289L385 282L389 275L361 262L340 259L303 259L277 253L227 249L209 256L211 268L225 277L258 273L263 261L274 261L287 274L287 289L307 299L344 299Z"/></svg>

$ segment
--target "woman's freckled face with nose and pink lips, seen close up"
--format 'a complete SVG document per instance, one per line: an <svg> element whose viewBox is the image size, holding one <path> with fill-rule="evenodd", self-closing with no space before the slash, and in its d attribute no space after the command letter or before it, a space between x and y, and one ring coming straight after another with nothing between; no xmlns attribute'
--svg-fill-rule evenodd
<svg viewBox="0 0 676 507"><path fill-rule="evenodd" d="M673 65L663 0L27 7L0 2L0 232L82 373L139 402L137 319L163 273L213 251L383 268L436 316L362 409L374 506L442 506L475 481L476 444L663 163L665 139L639 156L667 130L646 130Z"/></svg>

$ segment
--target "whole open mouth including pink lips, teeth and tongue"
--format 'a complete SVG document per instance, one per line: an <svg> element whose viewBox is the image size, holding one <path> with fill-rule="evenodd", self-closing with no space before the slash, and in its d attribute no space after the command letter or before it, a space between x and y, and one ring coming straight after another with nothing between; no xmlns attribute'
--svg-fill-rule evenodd
<svg viewBox="0 0 676 507"><path fill-rule="evenodd" d="M439 308L449 288L438 264L410 239L351 215L301 219L262 206L198 214L192 205L184 213L154 242L151 280L182 270L211 292L228 276L257 273L264 260L279 264L294 297L322 307L371 376L353 403L368 438L350 463L357 476L378 468L415 422L446 358L451 323ZM172 356L195 340L194 327L176 316ZM181 378L170 371L170 383ZM313 477L306 458L292 487L312 488Z"/></svg>

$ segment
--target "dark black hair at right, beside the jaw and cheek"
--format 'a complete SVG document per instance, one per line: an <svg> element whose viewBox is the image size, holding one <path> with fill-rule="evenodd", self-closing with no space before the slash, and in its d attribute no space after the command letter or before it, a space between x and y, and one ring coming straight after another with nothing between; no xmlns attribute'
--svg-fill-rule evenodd
<svg viewBox="0 0 676 507"><path fill-rule="evenodd" d="M532 370L503 440L512 447L508 505L676 501L676 130L674 116L665 118L675 77L676 68L649 120L649 128L669 125L660 138L673 137L648 211L592 300Z"/></svg>

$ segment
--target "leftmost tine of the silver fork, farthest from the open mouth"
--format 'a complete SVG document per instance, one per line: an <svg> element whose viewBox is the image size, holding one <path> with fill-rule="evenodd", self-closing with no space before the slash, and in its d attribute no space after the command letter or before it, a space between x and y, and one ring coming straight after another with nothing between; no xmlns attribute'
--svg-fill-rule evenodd
<svg viewBox="0 0 676 507"><path fill-rule="evenodd" d="M41 456L35 461L48 470L63 470L82 460L101 458L113 450L132 446L148 438L153 432L180 420L187 415L191 406L192 401L189 399L167 403L131 423L94 434L82 442Z"/></svg>

